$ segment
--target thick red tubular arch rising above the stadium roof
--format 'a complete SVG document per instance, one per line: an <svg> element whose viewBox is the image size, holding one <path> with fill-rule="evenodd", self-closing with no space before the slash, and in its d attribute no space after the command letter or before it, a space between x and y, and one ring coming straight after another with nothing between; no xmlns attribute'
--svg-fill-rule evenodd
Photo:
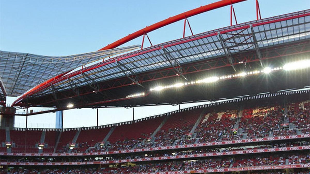
<svg viewBox="0 0 310 174"><path fill-rule="evenodd" d="M238 3L238 2L242 2L242 1L246 1L246 0L222 0L222 1L218 1L218 2L214 2L212 4L208 4L208 5L205 5L205 6L201 6L201 7L198 7L198 8L195 8L193 10L190 10L190 11L186 11L184 13L181 13L179 15L175 15L175 16L172 16L172 17L169 17L168 19L165 19L165 20L162 20L160 22L157 22L153 25L150 25L150 26L147 26L143 29L140 29L138 31L136 31L135 33L131 33L129 34L128 36L126 37L123 37L103 48L101 48L100 50L98 51L101 51L101 50L108 50L108 49L112 49L112 48L116 48L117 46L120 46L128 41L131 41L139 36L142 36L144 35L145 33L149 33L151 31L154 31L158 28L162 28L166 25L169 25L169 24L172 24L172 23L175 23L179 20L182 20L182 19L185 19L185 18L188 18L188 17L191 17L191 16L194 16L194 15L198 15L200 13L203 13L203 12L206 12L206 11L210 11L210 10L214 10L216 8L220 8L220 7L224 7L224 6L228 6L228 5L231 5L231 4L234 4L234 3Z"/></svg>

